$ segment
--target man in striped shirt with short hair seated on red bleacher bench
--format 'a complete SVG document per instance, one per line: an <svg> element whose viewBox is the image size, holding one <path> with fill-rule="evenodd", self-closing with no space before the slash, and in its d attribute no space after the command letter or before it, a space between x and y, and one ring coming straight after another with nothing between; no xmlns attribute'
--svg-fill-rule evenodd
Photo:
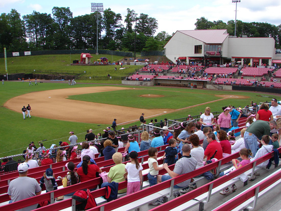
<svg viewBox="0 0 281 211"><path fill-rule="evenodd" d="M184 144L182 146L182 157L176 162L174 171L171 171L167 163L163 164L163 168L168 172L169 175L162 175L159 177L161 182L168 179L177 177L182 174L190 173L195 170L197 162L194 157L190 155L191 147L189 144ZM190 191L189 184L191 179L185 180L181 183L174 185L175 188L181 188L181 193L188 193ZM180 196L179 192L173 194L175 197Z"/></svg>

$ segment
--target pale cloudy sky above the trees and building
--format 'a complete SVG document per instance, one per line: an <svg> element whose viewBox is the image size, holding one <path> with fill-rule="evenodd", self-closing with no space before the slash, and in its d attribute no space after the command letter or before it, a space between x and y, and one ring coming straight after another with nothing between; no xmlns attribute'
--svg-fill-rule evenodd
<svg viewBox="0 0 281 211"><path fill-rule="evenodd" d="M79 4L80 3L80 4ZM91 12L91 3L103 3L104 9L111 8L120 13L123 20L127 8L137 14L144 13L158 21L158 30L166 31L169 35L177 30L194 30L197 18L205 17L209 21L235 20L236 3L232 0L167 0L153 1L34 1L34 0L0 0L0 13L9 13L11 9L17 10L21 16L31 14L34 10L40 13L52 14L53 7L69 7L73 16L85 15ZM237 3L237 19L243 22L267 22L281 25L280 0L241 0Z"/></svg>

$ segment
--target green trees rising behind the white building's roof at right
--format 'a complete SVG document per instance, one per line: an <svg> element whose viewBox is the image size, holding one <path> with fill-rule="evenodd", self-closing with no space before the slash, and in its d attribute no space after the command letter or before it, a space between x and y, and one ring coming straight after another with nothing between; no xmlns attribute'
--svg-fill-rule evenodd
<svg viewBox="0 0 281 211"><path fill-rule="evenodd" d="M209 21L205 17L196 19L195 29L227 29L229 35L235 34L235 21L229 20L227 23L222 20ZM273 37L275 39L275 48L281 48L281 24L275 26L267 22L243 22L236 21L236 36L241 37Z"/></svg>

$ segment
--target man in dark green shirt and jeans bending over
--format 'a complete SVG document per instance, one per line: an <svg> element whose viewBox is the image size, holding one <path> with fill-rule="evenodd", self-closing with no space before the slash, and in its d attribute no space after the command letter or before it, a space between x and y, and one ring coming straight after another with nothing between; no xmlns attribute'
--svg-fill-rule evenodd
<svg viewBox="0 0 281 211"><path fill-rule="evenodd" d="M270 135L270 130L276 129L277 124L275 121L257 120L250 124L244 133L244 142L247 149L252 151L253 156L257 151L257 142L261 143L263 135Z"/></svg>

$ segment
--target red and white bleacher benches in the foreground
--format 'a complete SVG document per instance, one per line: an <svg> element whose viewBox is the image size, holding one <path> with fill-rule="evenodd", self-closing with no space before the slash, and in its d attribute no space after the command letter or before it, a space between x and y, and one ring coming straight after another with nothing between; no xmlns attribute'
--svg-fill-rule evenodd
<svg viewBox="0 0 281 211"><path fill-rule="evenodd" d="M245 125L246 118L241 118L239 121L239 126L241 128L243 125ZM161 151L165 149L166 146L158 147L158 151ZM123 152L125 148L119 149L120 152ZM278 149L279 152L281 152L281 148ZM162 159L160 157L163 155L163 151L159 152L158 154L158 163L159 166L162 164ZM143 156L143 157L142 157ZM239 157L239 153L232 154L228 157L225 157L221 160L218 160L216 162L210 163L207 166L201 167L191 173L180 175L178 177L172 178L170 180L167 180L165 182L161 182L159 184L156 184L154 186L149 187L147 174L148 174L148 155L147 151L139 152L139 162L142 163L144 170L143 170L143 186L142 190L140 190L137 193L131 194L126 196L125 194L120 194L119 198L116 200L113 200L111 202L106 202L105 199L102 198L102 196L105 195L106 191L105 188L98 189L91 192L91 195L96 198L96 202L98 204L98 207L91 208L89 210L133 210L141 206L148 206L149 202L153 202L158 198L164 198L165 202L169 201L168 203L164 203L162 205L159 205L155 208L152 208L152 210L186 210L189 207L194 207L196 205L199 205L199 207L203 207L205 203L208 203L210 197L213 197L215 194L218 194L221 190L225 189L225 187L239 182L239 179L233 179L236 176L240 175L241 173L245 172L248 175L253 175L253 173L256 171L256 165L264 162L265 160L268 160L273 156L273 153L269 153L254 162L250 162L248 165L244 166L243 168L240 168L239 170L236 170L228 175L225 175L223 177L220 177L214 181L208 182L207 180L204 180L204 177L198 177L194 178L196 175L200 175L203 172L212 170L214 168L218 168L216 176L218 176L220 171L224 171L225 169L232 166L232 163L230 162L232 159L236 159ZM97 165L102 169L102 171L108 172L109 169L114 165L113 160L106 160L103 161L104 158L96 158ZM81 159L72 160L75 162L75 165L77 165ZM53 168L54 174L57 176L64 177L66 172L65 171L65 163L67 161L62 161L59 163L54 163L51 166L44 166L31 169L33 172L29 172L28 176L36 178L37 181L42 177L43 172L46 168ZM124 162L126 163L126 162ZM273 165L274 166L274 165ZM41 169L40 169L41 168ZM174 168L174 165L169 167L171 170ZM272 170L272 168L271 168ZM56 173L55 173L56 172ZM16 178L15 173L8 173L0 178L0 190L2 189L2 194L0 196L0 203L9 201L9 196L6 194L7 192L3 192L4 190L7 191L8 186L7 184L10 182L11 179ZM159 171L159 174L167 174L166 170ZM179 182L182 182L186 179L194 178L195 182L197 183L197 189L183 194L178 198L171 199L172 193L177 191L178 189L174 189L174 184L177 184ZM61 181L58 180L58 185L61 186ZM75 209L76 204L78 204L77 201L74 199L71 199L70 197L65 197L62 201L55 201L55 198L58 196L62 196L68 193L73 193L77 190L82 189L90 189L100 183L100 178L92 179L86 182L81 182L79 184L71 185L68 187L60 188L56 191L48 192L41 194L39 196L35 196L32 198L28 198L25 200L21 200L18 202L14 202L11 204L2 205L2 210L15 210L19 208L23 208L29 205L32 205L34 203L43 202L45 200L49 200L51 204L38 208L38 210L61 210L61 209ZM246 185L246 183L244 183ZM267 184L264 184L264 186L268 186ZM127 181L120 182L119 183L119 190L124 189L127 187ZM218 206L220 203L218 203Z"/></svg>

